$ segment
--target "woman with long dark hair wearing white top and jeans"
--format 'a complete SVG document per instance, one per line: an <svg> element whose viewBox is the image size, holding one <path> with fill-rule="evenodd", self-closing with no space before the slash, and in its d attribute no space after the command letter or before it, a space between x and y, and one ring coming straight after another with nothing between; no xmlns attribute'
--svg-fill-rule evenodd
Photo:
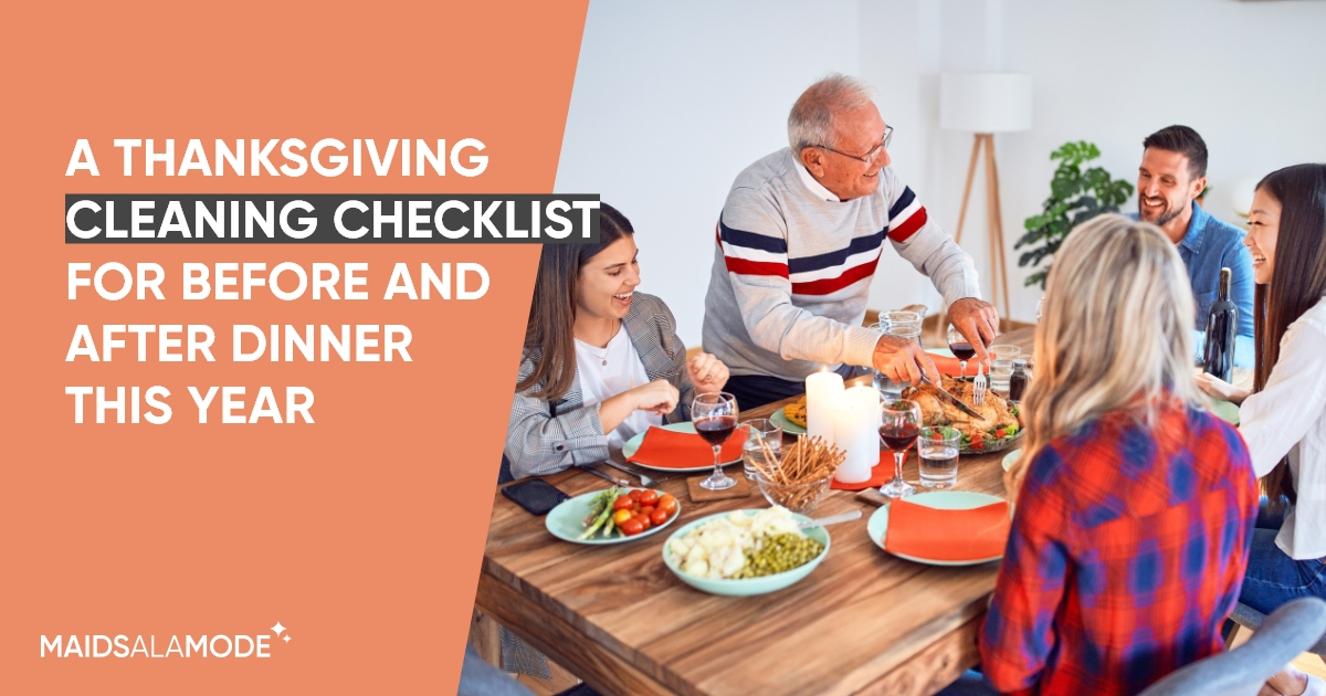
<svg viewBox="0 0 1326 696"><path fill-rule="evenodd" d="M1297 597L1326 599L1326 164L1266 175L1248 224L1253 390L1212 375L1197 382L1241 403L1238 432L1266 501L1238 601L1270 614Z"/></svg>

